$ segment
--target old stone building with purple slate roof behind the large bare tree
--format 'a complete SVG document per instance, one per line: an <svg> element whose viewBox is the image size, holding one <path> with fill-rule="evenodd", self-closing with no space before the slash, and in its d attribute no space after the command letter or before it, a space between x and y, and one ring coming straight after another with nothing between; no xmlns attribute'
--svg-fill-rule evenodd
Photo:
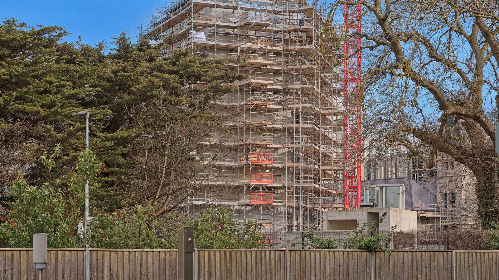
<svg viewBox="0 0 499 280"><path fill-rule="evenodd" d="M444 153L435 156L433 168L408 155L404 149L365 155L368 159L362 186L411 184L410 196L406 193L406 209L420 213L423 228L427 225L428 229L439 230L476 224L477 202L470 170Z"/></svg>

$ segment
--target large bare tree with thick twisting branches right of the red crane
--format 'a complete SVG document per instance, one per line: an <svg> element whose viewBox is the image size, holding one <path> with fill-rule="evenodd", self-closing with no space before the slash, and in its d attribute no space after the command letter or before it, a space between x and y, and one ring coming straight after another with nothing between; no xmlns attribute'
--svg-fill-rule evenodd
<svg viewBox="0 0 499 280"><path fill-rule="evenodd" d="M342 4L336 1L332 14ZM499 4L467 0L365 0L364 137L404 145L431 168L444 152L476 177L482 225L499 224ZM360 50L359 50L360 51Z"/></svg>

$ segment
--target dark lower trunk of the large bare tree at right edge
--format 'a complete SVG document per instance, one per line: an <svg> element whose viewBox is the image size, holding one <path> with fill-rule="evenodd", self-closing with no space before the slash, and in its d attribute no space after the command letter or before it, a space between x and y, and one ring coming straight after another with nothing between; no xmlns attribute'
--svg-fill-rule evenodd
<svg viewBox="0 0 499 280"><path fill-rule="evenodd" d="M472 171L477 179L476 193L478 215L484 228L499 225L499 164L475 166Z"/></svg>

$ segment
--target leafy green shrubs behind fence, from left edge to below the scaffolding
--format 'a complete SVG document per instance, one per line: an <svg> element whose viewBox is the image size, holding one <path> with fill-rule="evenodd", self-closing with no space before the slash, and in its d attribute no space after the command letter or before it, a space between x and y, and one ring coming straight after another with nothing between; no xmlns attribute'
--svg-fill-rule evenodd
<svg viewBox="0 0 499 280"><path fill-rule="evenodd" d="M74 171L53 172L55 159L62 153L57 145L53 153L44 153L47 182L40 187L27 183L22 174L9 184L11 209L0 224L0 245L11 248L31 248L34 233L48 233L49 248L78 248L88 243L93 248L157 249L177 248L177 233L182 226L193 226L195 245L207 249L252 249L267 246L261 225L248 221L240 226L232 221L227 208L206 208L201 218L189 221L169 213L161 218L154 205L106 213L94 210L81 240L78 223L83 219L84 185L96 186L95 177L101 166L92 151L81 152Z"/></svg>

